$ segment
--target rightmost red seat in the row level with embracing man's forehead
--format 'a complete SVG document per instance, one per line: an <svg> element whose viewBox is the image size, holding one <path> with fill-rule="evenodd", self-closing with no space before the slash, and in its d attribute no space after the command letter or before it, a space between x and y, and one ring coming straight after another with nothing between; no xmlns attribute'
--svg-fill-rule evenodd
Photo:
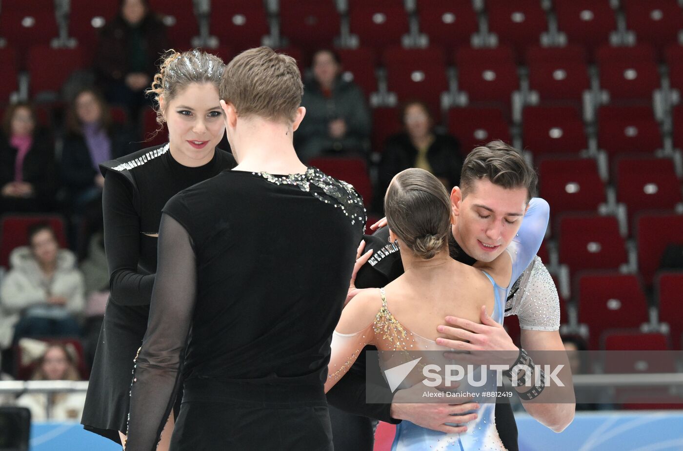
<svg viewBox="0 0 683 451"><path fill-rule="evenodd" d="M617 200L626 204L628 217L643 210L673 210L683 202L671 159L621 158L615 166Z"/></svg>

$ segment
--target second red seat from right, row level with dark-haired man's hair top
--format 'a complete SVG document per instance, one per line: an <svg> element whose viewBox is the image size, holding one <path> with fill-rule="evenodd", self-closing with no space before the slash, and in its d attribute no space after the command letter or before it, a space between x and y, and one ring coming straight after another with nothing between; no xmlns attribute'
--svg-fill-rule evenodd
<svg viewBox="0 0 683 451"><path fill-rule="evenodd" d="M600 107L598 146L608 154L648 152L662 147L659 125L650 107Z"/></svg>

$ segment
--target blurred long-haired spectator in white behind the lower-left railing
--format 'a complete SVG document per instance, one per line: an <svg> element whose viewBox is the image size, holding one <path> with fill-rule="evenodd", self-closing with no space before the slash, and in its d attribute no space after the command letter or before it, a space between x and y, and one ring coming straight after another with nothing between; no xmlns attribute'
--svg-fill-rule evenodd
<svg viewBox="0 0 683 451"><path fill-rule="evenodd" d="M38 359L33 381L80 381L76 351L64 344L51 344ZM85 393L54 393L51 397L50 420L79 420L85 404ZM48 420L46 415L48 396L44 393L26 393L16 400L16 405L31 411L31 420Z"/></svg>

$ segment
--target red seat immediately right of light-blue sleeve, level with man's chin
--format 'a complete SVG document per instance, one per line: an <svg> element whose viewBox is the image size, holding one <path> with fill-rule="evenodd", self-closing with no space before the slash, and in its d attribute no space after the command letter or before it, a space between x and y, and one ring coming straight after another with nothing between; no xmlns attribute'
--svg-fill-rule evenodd
<svg viewBox="0 0 683 451"><path fill-rule="evenodd" d="M619 269L628 261L626 242L613 216L564 215L559 221L559 262L581 269Z"/></svg>

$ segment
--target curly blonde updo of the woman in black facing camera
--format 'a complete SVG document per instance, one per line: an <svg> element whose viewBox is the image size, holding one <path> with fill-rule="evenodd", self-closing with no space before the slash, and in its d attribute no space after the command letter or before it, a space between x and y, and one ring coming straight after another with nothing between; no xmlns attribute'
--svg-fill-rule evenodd
<svg viewBox="0 0 683 451"><path fill-rule="evenodd" d="M182 53L171 49L162 59L152 87L145 91L145 94L154 96L158 124L165 122L164 111L159 102L162 97L167 107L174 97L192 83L213 83L218 90L225 70L223 59L199 49Z"/></svg>

